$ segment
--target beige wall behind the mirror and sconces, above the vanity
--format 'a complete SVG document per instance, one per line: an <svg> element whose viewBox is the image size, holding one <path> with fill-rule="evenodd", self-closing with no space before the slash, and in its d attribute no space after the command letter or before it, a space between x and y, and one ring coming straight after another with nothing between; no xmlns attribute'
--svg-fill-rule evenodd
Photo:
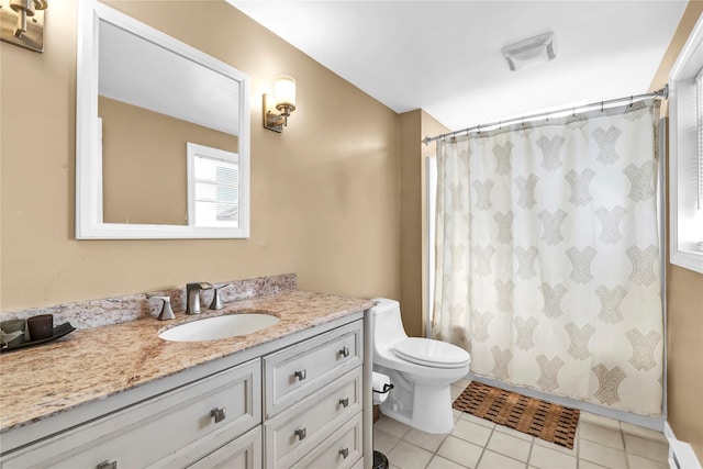
<svg viewBox="0 0 703 469"><path fill-rule="evenodd" d="M252 237L75 239L77 7L51 2L43 54L0 45L0 311L282 272L399 298L398 114L224 1L110 3L252 78ZM261 93L283 74L298 110L276 134Z"/></svg>

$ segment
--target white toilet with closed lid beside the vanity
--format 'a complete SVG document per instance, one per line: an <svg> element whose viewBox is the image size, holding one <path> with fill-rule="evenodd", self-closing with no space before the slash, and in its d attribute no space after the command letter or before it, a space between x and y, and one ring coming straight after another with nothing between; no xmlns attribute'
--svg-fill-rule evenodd
<svg viewBox="0 0 703 469"><path fill-rule="evenodd" d="M426 433L449 433L454 427L449 386L469 372L471 357L455 345L408 337L400 303L376 298L373 371L388 375L393 390L380 404L381 413Z"/></svg>

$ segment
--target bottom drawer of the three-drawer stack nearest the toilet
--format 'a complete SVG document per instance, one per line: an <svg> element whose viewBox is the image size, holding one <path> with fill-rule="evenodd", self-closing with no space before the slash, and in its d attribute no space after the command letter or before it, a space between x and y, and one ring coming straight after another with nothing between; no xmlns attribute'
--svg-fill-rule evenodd
<svg viewBox="0 0 703 469"><path fill-rule="evenodd" d="M361 445L361 413L358 413L293 467L350 468L364 455Z"/></svg>

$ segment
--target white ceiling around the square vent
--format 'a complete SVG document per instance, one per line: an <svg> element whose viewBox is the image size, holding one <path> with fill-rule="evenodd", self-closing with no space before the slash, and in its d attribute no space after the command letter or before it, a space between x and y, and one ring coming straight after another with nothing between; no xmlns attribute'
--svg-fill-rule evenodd
<svg viewBox="0 0 703 469"><path fill-rule="evenodd" d="M392 110L450 130L647 92L687 4L227 1ZM548 31L557 58L510 71L501 48Z"/></svg>

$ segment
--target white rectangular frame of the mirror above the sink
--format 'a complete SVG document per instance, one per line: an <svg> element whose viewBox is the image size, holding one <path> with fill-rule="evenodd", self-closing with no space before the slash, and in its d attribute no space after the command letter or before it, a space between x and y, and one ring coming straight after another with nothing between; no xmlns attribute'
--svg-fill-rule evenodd
<svg viewBox="0 0 703 469"><path fill-rule="evenodd" d="M239 82L239 226L104 223L102 214L101 125L98 116L98 53L101 20L228 76ZM169 239L249 237L249 77L236 68L96 0L78 2L76 90L76 238ZM185 160L185 159L183 159Z"/></svg>

